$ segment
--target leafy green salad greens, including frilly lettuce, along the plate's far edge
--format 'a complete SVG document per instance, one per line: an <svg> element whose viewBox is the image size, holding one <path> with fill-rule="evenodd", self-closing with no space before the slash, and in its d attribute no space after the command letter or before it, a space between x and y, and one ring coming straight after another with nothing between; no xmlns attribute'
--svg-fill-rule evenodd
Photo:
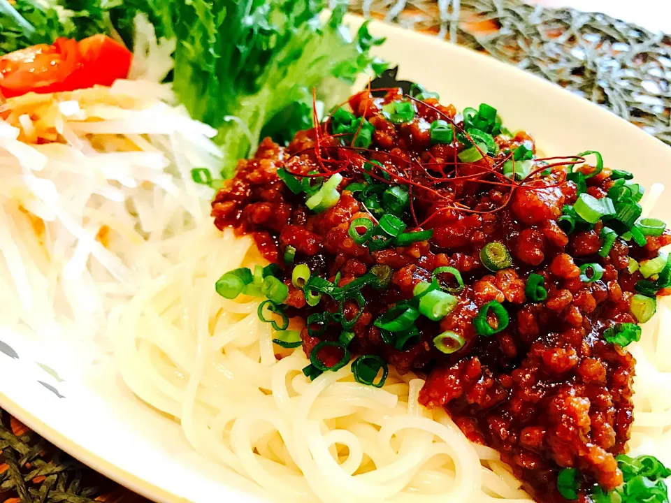
<svg viewBox="0 0 671 503"><path fill-rule="evenodd" d="M312 124L312 89L327 104L344 99L357 75L386 68L370 56L382 40L343 23L347 3L326 22L311 0L0 0L0 50L58 36L118 34L132 41L141 13L157 36L177 41L173 89L194 119L218 130L231 176L261 134L287 143Z"/></svg>

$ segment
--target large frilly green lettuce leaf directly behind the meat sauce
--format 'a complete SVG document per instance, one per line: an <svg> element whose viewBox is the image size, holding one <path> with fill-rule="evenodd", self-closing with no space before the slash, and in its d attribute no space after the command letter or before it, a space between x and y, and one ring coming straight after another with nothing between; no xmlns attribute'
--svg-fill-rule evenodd
<svg viewBox="0 0 671 503"><path fill-rule="evenodd" d="M382 41L367 25L353 39L342 23L345 4L326 23L319 19L322 7L309 1L217 4L222 8L202 0L181 6L173 87L193 117L218 129L226 176L278 113L289 108L290 122L286 129L266 129L277 140L310 126L312 88L319 91L326 78L351 84L366 68L383 66L369 55Z"/></svg>

